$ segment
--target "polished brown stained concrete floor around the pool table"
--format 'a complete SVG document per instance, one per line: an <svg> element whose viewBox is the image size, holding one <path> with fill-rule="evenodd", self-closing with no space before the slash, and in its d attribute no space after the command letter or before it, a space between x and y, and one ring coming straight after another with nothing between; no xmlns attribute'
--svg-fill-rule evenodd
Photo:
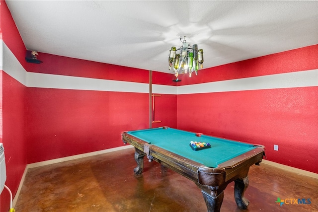
<svg viewBox="0 0 318 212"><path fill-rule="evenodd" d="M145 159L134 175L134 149L31 168L18 197L16 212L206 212L194 182ZM248 212L318 211L318 179L262 164L249 171L245 191ZM275 203L311 199L311 204ZM293 203L293 201L292 201ZM306 202L309 203L309 202ZM225 190L221 212L240 212L234 183Z"/></svg>

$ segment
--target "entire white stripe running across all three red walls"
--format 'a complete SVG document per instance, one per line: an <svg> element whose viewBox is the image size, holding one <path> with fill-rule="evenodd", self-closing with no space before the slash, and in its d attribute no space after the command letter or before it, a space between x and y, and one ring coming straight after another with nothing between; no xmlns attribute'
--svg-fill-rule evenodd
<svg viewBox="0 0 318 212"><path fill-rule="evenodd" d="M2 70L27 87L149 93L148 83L27 72L2 40L0 45L2 45L2 61L0 61ZM279 73L177 87L153 84L153 93L194 94L309 86L318 86L318 70Z"/></svg>

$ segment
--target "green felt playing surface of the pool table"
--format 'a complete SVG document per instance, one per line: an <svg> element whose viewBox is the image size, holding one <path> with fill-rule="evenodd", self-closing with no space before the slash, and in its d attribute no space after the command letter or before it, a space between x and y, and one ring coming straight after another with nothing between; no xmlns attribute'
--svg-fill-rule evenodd
<svg viewBox="0 0 318 212"><path fill-rule="evenodd" d="M205 135L197 137L195 133L173 128L137 130L130 131L128 134L182 157L202 163L207 167L217 167L220 163L256 148L252 144L238 141L230 141ZM190 141L210 143L211 148L194 151L189 146Z"/></svg>

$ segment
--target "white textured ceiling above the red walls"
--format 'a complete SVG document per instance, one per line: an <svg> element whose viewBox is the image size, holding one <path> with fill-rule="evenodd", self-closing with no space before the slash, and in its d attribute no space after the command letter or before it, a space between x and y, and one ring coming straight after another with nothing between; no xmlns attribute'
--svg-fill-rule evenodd
<svg viewBox="0 0 318 212"><path fill-rule="evenodd" d="M168 51L183 36L204 68L318 44L318 1L6 3L28 50L145 70L173 73Z"/></svg>

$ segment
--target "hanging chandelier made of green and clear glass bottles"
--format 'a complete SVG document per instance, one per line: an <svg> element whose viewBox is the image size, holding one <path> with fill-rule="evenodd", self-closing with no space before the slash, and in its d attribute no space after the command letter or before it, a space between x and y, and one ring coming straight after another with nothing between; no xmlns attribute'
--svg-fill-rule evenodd
<svg viewBox="0 0 318 212"><path fill-rule="evenodd" d="M193 71L195 74L198 74L199 64L200 69L203 68L203 49L198 50L198 45L187 43L185 40L185 36L183 38L182 46L176 49L174 46L169 50L169 70L171 68L174 71L174 75L178 77L179 73L187 73L189 72L189 77Z"/></svg>

